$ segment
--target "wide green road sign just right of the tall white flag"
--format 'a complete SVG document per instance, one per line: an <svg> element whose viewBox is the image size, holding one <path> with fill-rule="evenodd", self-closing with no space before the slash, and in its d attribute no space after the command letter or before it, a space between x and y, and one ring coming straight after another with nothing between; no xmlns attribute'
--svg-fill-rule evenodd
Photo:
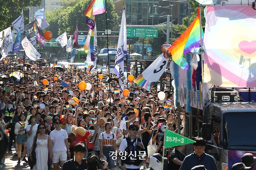
<svg viewBox="0 0 256 170"><path fill-rule="evenodd" d="M157 28L126 28L127 37L158 37Z"/></svg>

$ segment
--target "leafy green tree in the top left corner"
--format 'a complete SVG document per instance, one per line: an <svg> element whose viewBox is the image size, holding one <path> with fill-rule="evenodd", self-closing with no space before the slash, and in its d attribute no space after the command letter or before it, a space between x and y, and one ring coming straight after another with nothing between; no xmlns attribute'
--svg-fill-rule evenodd
<svg viewBox="0 0 256 170"><path fill-rule="evenodd" d="M0 31L12 25L23 9L24 14L28 12L28 7L40 5L42 0L0 0ZM28 17L24 18L28 24Z"/></svg>

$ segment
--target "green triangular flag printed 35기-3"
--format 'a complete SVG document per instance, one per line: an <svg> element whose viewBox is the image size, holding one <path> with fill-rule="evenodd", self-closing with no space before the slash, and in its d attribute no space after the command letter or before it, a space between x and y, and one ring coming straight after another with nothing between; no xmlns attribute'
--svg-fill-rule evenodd
<svg viewBox="0 0 256 170"><path fill-rule="evenodd" d="M180 146L180 145L186 145L195 143L195 141L184 137L182 135L176 134L175 132L172 132L170 130L165 130L165 141L164 141L164 147L173 147L173 146Z"/></svg>

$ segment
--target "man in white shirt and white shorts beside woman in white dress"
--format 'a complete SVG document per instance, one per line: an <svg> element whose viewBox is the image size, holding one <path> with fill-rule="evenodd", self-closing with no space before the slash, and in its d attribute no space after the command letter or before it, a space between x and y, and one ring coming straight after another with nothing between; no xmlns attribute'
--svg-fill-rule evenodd
<svg viewBox="0 0 256 170"><path fill-rule="evenodd" d="M53 123L55 129L51 131L50 137L53 146L53 169L58 170L59 163L60 167L63 167L65 161L67 161L67 156L70 157L69 144L68 144L68 134L67 131L60 127L61 121L59 118L54 118Z"/></svg>

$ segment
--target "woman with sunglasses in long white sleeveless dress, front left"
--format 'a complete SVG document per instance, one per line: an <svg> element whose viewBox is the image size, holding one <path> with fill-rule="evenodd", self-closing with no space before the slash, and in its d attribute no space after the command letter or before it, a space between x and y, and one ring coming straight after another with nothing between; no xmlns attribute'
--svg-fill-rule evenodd
<svg viewBox="0 0 256 170"><path fill-rule="evenodd" d="M39 131L39 134L37 135L37 141L36 141L37 147L35 148L35 155L36 155L37 161L33 167L33 170L48 170L48 165L47 165L48 152L51 153L51 148L52 148L51 142L50 142L50 136L45 134L46 126L42 123L38 125L37 130ZM33 145L31 148L33 148ZM31 157L31 153L32 151L30 151L30 157Z"/></svg>

